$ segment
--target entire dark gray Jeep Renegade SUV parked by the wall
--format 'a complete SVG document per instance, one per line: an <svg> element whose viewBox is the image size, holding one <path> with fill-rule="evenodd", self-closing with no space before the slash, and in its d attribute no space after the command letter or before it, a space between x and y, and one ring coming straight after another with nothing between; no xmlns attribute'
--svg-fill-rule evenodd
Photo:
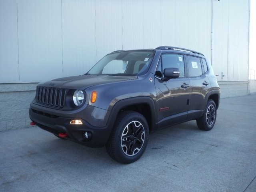
<svg viewBox="0 0 256 192"><path fill-rule="evenodd" d="M31 124L121 163L138 160L148 135L196 120L211 130L220 88L210 61L184 48L114 51L86 74L40 83Z"/></svg>

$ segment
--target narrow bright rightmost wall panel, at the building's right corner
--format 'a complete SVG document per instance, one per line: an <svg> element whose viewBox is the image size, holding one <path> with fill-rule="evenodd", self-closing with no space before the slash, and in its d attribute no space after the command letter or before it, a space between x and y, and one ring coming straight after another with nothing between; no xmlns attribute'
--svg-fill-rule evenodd
<svg viewBox="0 0 256 192"><path fill-rule="evenodd" d="M234 0L228 7L228 80L247 81L249 4Z"/></svg>

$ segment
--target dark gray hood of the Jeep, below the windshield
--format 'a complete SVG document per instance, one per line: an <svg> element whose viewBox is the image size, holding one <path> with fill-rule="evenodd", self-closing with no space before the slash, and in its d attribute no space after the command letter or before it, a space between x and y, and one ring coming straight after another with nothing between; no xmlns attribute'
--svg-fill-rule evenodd
<svg viewBox="0 0 256 192"><path fill-rule="evenodd" d="M126 80L134 80L137 76L113 76L113 75L81 75L54 79L40 83L38 86L66 88L66 89L86 89L99 84L114 83Z"/></svg>

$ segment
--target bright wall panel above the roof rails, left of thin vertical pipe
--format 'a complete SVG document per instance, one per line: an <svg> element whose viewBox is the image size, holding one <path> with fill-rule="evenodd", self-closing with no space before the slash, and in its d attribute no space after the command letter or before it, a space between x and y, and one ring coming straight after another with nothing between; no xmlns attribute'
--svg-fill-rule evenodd
<svg viewBox="0 0 256 192"><path fill-rule="evenodd" d="M162 44L196 50L210 57L210 8L210 0L162 0Z"/></svg>

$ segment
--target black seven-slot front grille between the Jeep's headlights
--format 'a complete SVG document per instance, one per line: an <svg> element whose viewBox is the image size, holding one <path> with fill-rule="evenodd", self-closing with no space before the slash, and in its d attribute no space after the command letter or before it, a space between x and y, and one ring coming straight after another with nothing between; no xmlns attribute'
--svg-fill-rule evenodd
<svg viewBox="0 0 256 192"><path fill-rule="evenodd" d="M62 108L65 104L65 96L65 89L38 87L36 91L36 102L44 106Z"/></svg>

